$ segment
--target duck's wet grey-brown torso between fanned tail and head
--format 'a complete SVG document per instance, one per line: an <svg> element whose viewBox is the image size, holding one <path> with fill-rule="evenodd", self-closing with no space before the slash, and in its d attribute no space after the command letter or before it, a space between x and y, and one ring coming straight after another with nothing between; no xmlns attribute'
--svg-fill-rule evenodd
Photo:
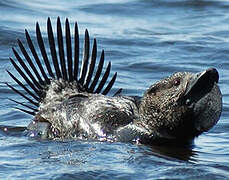
<svg viewBox="0 0 229 180"><path fill-rule="evenodd" d="M48 104L41 103L28 129L37 131L39 123L47 123L46 128L36 134L43 138L101 140L110 137L114 141L115 131L133 122L138 116L134 98L76 92L64 100L60 95L60 99L47 100Z"/></svg>

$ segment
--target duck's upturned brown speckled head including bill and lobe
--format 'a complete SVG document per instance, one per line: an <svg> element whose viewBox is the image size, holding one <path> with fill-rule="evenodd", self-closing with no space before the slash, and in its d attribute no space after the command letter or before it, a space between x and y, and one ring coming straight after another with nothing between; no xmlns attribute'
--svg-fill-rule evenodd
<svg viewBox="0 0 229 180"><path fill-rule="evenodd" d="M191 140L212 128L221 115L219 74L210 68L178 72L152 85L144 94L139 124L153 136Z"/></svg>

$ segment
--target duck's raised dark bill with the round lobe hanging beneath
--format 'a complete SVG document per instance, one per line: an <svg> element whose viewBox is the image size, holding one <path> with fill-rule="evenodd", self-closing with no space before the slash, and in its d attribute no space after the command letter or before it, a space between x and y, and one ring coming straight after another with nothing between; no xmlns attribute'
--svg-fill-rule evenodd
<svg viewBox="0 0 229 180"><path fill-rule="evenodd" d="M222 94L217 85L219 74L216 69L207 69L195 74L188 83L184 100L192 111L196 136L208 131L219 120L222 111Z"/></svg>

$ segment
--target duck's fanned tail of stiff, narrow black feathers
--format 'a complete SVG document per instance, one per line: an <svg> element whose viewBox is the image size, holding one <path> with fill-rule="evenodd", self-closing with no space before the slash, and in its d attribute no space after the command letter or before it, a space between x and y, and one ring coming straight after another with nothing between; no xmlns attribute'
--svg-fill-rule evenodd
<svg viewBox="0 0 229 180"><path fill-rule="evenodd" d="M11 72L7 72L12 77L12 79L22 89L24 89L26 94L19 91L18 89L16 89L8 83L6 83L6 85L34 106L32 107L25 103L21 103L10 99L11 101L25 108L28 108L29 110L25 110L22 108L17 109L25 113L35 115L35 113L38 111L37 109L39 107L39 103L41 102L42 97L44 95L44 88L46 85L49 85L51 83L51 79L62 78L63 80L68 82L76 81L78 84L79 91L86 91L88 93L101 93L103 95L109 93L110 89L114 85L117 73L115 73L112 76L112 78L108 80L111 69L111 63L109 62L107 67L105 68L105 72L102 75L102 70L104 67L103 50L100 56L98 67L95 70L97 57L97 43L96 39L94 39L92 53L90 56L90 38L87 29L85 30L83 59L80 68L79 33L77 23L75 23L74 29L74 47L72 47L72 38L68 19L66 19L65 21L65 41L59 17L57 18L57 45L55 42L50 18L48 18L47 20L47 32L53 67L50 64L50 57L47 54L45 43L38 23L36 23L36 38L41 52L41 57L38 56L37 50L35 49L35 46L27 30L25 30L25 36L31 53L28 53L28 50L26 50L26 48L20 40L18 40L18 45L21 53L23 54L23 57L19 55L19 53L13 48L13 53L18 63L16 63L15 60L13 60L12 58L10 58L10 62L17 70L17 72L20 74L20 76L24 79L27 85L24 85ZM25 63L23 59L25 59L27 63ZM78 72L79 70L80 72ZM94 77L93 74L95 74ZM120 91L121 90L118 90L117 93L119 93Z"/></svg>

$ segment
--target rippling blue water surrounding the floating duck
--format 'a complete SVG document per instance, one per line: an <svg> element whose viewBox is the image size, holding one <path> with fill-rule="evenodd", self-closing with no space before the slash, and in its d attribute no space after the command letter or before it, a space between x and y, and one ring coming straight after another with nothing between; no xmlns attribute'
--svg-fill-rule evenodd
<svg viewBox="0 0 229 180"><path fill-rule="evenodd" d="M68 17L87 28L105 49L114 90L142 95L153 82L176 71L220 73L223 113L192 148L131 143L44 141L0 131L0 179L227 179L229 177L229 1L122 0L0 2L0 125L26 126L31 116L12 109L20 99L4 82L17 38L32 36L38 21Z"/></svg>

